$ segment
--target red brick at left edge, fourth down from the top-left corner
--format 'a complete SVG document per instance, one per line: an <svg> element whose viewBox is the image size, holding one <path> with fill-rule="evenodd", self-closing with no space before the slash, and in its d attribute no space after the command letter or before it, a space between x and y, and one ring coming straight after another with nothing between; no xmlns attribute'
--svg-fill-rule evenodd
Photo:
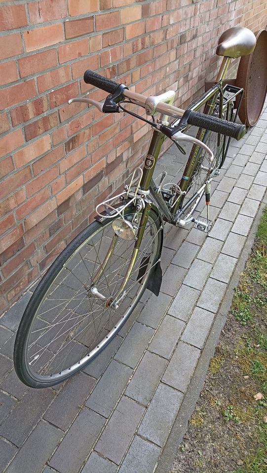
<svg viewBox="0 0 267 473"><path fill-rule="evenodd" d="M16 103L32 99L36 94L34 79L3 89L0 95L0 110L11 107Z"/></svg>

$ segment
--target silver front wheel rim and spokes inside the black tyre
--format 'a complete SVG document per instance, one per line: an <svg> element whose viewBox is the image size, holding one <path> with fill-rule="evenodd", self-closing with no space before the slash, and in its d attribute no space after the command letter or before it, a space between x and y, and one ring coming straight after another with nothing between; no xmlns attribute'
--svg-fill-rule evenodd
<svg viewBox="0 0 267 473"><path fill-rule="evenodd" d="M119 331L138 303L158 251L159 229L151 216L125 288L127 294L118 309L104 307L103 301L91 294L88 297L88 289L85 291L84 285L89 287L91 274L103 263L113 235L108 223L89 236L42 296L24 344L24 366L35 382L60 382L88 364ZM101 294L106 290L105 296L113 297L116 293L134 243L135 240L118 239L105 274L98 281ZM140 266L145 266L145 256L145 274L140 278L138 272Z"/></svg>

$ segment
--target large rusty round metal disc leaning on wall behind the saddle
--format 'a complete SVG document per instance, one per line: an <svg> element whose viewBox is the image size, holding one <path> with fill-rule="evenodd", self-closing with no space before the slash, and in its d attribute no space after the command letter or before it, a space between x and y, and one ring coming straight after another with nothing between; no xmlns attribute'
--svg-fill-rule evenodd
<svg viewBox="0 0 267 473"><path fill-rule="evenodd" d="M255 36L255 49L240 59L236 76L236 86L244 89L238 116L250 127L259 120L267 94L267 31L260 30Z"/></svg>

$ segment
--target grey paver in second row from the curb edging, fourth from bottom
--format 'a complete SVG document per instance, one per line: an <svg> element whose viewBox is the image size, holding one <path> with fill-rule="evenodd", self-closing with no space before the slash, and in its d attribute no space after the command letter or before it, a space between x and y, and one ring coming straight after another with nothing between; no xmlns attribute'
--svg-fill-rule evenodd
<svg viewBox="0 0 267 473"><path fill-rule="evenodd" d="M184 328L184 322L171 315L165 315L156 331L149 350L169 359Z"/></svg>

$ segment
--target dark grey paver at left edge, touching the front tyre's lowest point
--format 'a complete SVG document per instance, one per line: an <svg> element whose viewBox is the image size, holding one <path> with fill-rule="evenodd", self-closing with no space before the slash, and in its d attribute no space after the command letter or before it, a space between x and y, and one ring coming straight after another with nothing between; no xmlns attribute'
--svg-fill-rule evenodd
<svg viewBox="0 0 267 473"><path fill-rule="evenodd" d="M26 393L0 425L0 435L20 447L54 397L51 389Z"/></svg>

